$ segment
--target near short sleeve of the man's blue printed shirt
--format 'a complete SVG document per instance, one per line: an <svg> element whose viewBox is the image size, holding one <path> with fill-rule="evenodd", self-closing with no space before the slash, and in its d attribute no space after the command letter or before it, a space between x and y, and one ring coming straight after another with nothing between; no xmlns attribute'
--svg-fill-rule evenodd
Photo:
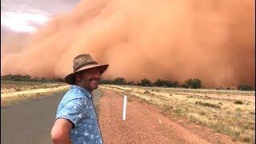
<svg viewBox="0 0 256 144"><path fill-rule="evenodd" d="M73 123L73 126L77 126L78 122L80 122L83 117L82 109L84 104L85 102L82 98L75 98L70 102L67 102L66 105L58 111L55 119L65 118L70 120Z"/></svg>

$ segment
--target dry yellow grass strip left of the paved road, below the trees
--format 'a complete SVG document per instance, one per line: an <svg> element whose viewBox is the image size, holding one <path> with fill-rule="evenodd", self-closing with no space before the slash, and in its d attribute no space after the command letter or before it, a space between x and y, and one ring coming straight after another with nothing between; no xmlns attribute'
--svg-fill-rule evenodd
<svg viewBox="0 0 256 144"><path fill-rule="evenodd" d="M1 106L10 106L68 90L64 83L1 82Z"/></svg>

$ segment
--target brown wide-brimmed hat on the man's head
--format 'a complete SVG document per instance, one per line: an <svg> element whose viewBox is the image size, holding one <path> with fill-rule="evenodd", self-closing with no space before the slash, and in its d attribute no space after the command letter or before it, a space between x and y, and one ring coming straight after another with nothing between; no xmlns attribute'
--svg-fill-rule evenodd
<svg viewBox="0 0 256 144"><path fill-rule="evenodd" d="M80 54L74 58L73 61L73 69L74 72L72 74L68 74L65 78L65 82L74 85L74 75L78 74L83 70L88 70L97 67L100 74L103 74L109 65L100 65L98 62L95 62L93 58L91 58L90 54Z"/></svg>

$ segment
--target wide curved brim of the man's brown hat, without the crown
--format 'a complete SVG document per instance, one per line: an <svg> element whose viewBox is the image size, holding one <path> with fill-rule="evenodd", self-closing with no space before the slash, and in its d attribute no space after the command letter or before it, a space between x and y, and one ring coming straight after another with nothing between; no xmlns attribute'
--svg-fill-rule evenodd
<svg viewBox="0 0 256 144"><path fill-rule="evenodd" d="M67 75L66 78L65 78L65 82L70 84L70 85L74 85L74 75L77 74L78 72L81 72L82 70L89 70L89 69L97 67L98 70L99 70L99 73L103 74L106 71L108 66L109 65L83 66L82 68L80 68L79 70L75 71L74 73Z"/></svg>

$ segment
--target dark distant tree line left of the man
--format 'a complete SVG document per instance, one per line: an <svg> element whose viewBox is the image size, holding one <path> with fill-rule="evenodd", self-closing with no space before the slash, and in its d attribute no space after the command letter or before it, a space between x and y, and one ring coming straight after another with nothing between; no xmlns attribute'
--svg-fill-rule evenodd
<svg viewBox="0 0 256 144"><path fill-rule="evenodd" d="M1 76L1 81L11 81L11 82L65 82L63 78L32 78L30 75L21 74L8 74Z"/></svg>

